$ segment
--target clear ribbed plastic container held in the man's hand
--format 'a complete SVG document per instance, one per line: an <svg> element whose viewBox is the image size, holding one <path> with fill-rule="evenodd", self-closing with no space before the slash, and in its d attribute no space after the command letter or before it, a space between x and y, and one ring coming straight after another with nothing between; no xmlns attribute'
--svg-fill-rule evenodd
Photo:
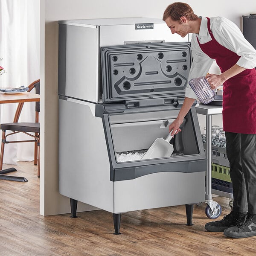
<svg viewBox="0 0 256 256"><path fill-rule="evenodd" d="M215 99L215 91L211 89L204 76L191 79L189 85L201 103L207 104Z"/></svg>

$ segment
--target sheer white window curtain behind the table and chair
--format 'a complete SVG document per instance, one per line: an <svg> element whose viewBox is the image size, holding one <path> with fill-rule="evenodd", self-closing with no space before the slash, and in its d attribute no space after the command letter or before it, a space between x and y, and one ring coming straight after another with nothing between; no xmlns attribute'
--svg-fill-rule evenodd
<svg viewBox="0 0 256 256"><path fill-rule="evenodd" d="M40 0L0 0L0 11L0 66L4 68L0 87L26 87L39 79L40 73ZM0 104L0 122L13 122L16 108L17 103ZM19 122L34 121L35 102L26 102ZM25 134L12 136L28 139ZM33 159L34 143L6 144L3 163Z"/></svg>

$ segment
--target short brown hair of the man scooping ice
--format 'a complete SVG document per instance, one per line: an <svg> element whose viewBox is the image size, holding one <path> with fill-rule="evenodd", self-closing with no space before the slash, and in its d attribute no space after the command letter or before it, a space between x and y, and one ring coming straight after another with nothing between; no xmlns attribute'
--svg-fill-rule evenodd
<svg viewBox="0 0 256 256"><path fill-rule="evenodd" d="M176 2L167 6L163 13L163 20L165 21L168 17L171 17L172 20L179 21L180 17L183 16L188 20L196 20L198 18L187 3Z"/></svg>

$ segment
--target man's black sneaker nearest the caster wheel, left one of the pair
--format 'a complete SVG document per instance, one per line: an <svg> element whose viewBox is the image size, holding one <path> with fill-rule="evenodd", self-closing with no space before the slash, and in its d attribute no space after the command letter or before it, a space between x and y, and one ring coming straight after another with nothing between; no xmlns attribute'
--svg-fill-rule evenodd
<svg viewBox="0 0 256 256"><path fill-rule="evenodd" d="M230 212L220 221L208 222L204 228L209 232L223 232L225 229L239 224L244 215L246 214L241 212Z"/></svg>

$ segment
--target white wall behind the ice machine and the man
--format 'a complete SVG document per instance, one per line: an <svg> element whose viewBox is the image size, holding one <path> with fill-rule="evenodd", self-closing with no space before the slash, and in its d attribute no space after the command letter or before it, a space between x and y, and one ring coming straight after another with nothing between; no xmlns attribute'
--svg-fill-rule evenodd
<svg viewBox="0 0 256 256"><path fill-rule="evenodd" d="M242 28L242 15L256 13L252 0L187 0L195 14L224 16ZM41 215L70 212L69 200L58 193L58 20L111 17L162 18L167 0L41 0L41 82L45 84L41 100ZM45 4L45 6L44 6ZM45 20L45 27L44 27ZM45 47L45 48L44 48ZM45 73L45 74L44 74ZM43 87L43 86L42 86ZM218 118L217 122L220 122ZM213 119L213 122L215 120ZM44 127L43 127L44 126ZM80 210L88 209L80 206ZM90 208L89 208L90 209Z"/></svg>

